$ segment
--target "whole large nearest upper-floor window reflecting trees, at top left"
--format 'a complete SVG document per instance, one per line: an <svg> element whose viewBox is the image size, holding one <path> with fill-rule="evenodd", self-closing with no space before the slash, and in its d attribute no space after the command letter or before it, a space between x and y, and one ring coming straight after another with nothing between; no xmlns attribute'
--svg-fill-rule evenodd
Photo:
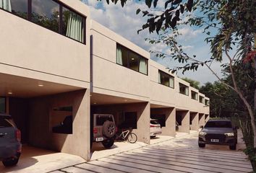
<svg viewBox="0 0 256 173"><path fill-rule="evenodd" d="M55 0L0 0L0 8L85 43L85 17Z"/></svg>

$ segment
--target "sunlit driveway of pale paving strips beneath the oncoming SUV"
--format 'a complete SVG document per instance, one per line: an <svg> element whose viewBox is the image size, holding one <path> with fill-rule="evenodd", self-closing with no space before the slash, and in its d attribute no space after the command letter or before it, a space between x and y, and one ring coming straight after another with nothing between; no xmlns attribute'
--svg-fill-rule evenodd
<svg viewBox="0 0 256 173"><path fill-rule="evenodd" d="M106 156L73 167L63 172L250 172L252 167L242 151L231 151L228 146L198 148L197 133L171 139L150 146Z"/></svg>

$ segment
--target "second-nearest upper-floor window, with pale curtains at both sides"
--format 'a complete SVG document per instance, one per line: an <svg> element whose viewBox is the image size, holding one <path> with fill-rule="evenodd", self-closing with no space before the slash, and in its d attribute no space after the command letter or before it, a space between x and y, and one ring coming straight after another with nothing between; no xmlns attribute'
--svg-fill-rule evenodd
<svg viewBox="0 0 256 173"><path fill-rule="evenodd" d="M116 63L148 75L148 59L119 44L116 45Z"/></svg>

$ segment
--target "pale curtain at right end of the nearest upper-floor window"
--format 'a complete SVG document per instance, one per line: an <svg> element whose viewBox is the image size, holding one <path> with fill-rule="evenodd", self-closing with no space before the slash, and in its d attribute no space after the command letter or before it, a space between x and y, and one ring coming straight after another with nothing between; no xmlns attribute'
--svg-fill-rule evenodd
<svg viewBox="0 0 256 173"><path fill-rule="evenodd" d="M67 22L67 36L83 43L84 26L82 20L82 17L70 12L69 21Z"/></svg>

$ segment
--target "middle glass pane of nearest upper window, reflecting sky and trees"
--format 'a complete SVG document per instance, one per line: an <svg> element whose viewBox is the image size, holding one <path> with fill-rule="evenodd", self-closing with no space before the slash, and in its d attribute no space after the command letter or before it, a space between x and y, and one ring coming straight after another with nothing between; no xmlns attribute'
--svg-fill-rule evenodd
<svg viewBox="0 0 256 173"><path fill-rule="evenodd" d="M31 19L42 27L59 32L59 4L52 0L32 0Z"/></svg>

